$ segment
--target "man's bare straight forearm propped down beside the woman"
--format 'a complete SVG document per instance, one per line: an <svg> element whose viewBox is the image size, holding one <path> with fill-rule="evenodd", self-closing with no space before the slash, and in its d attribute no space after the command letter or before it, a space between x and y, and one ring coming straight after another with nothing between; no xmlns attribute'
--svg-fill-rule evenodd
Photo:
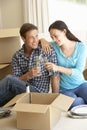
<svg viewBox="0 0 87 130"><path fill-rule="evenodd" d="M52 93L59 93L60 76L55 75L51 78Z"/></svg>

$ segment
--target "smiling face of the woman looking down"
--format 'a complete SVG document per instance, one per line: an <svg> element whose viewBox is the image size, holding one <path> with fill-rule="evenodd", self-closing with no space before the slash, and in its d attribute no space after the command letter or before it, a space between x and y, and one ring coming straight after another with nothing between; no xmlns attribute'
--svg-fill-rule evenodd
<svg viewBox="0 0 87 130"><path fill-rule="evenodd" d="M50 36L53 39L53 41L58 44L58 46L61 46L61 45L63 45L63 43L65 41L66 30L61 31L58 29L51 29Z"/></svg>

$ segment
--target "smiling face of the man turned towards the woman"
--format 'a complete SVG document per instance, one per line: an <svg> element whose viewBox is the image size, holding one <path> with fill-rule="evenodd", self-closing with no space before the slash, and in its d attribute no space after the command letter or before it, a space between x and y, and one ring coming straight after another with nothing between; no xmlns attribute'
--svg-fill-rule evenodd
<svg viewBox="0 0 87 130"><path fill-rule="evenodd" d="M38 30L31 30L26 33L26 37L23 38L25 47L27 49L36 49L38 47Z"/></svg>

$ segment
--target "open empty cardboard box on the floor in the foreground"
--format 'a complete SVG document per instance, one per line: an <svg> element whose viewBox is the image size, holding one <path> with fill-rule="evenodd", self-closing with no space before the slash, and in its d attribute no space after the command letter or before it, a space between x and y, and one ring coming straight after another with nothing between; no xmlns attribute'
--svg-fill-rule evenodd
<svg viewBox="0 0 87 130"><path fill-rule="evenodd" d="M67 111L74 99L63 94L25 93L18 95L6 106L15 103L17 128L51 130L58 122L61 111ZM6 107L5 106L5 107Z"/></svg>

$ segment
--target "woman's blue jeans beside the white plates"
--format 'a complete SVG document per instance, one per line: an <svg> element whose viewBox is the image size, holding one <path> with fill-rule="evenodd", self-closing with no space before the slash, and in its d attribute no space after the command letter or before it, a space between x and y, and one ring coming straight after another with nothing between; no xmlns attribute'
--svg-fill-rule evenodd
<svg viewBox="0 0 87 130"><path fill-rule="evenodd" d="M87 104L87 82L75 89L60 90L60 93L75 98L69 109L77 105Z"/></svg>

